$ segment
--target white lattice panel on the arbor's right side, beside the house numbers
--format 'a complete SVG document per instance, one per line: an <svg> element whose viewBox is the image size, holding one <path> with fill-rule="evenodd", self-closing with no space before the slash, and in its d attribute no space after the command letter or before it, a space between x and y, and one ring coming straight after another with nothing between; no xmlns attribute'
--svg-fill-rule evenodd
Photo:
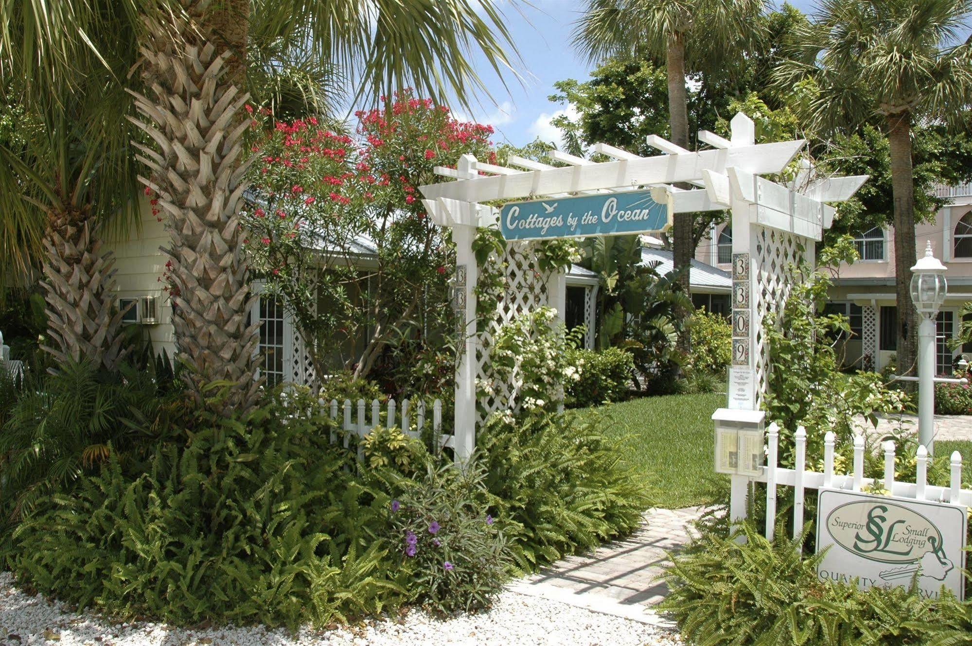
<svg viewBox="0 0 972 646"><path fill-rule="evenodd" d="M813 240L779 229L752 223L755 234L753 249L753 366L756 370L756 398L762 402L767 390L770 352L763 329L768 315L779 312L789 296L796 276L792 271L803 259Z"/></svg>

